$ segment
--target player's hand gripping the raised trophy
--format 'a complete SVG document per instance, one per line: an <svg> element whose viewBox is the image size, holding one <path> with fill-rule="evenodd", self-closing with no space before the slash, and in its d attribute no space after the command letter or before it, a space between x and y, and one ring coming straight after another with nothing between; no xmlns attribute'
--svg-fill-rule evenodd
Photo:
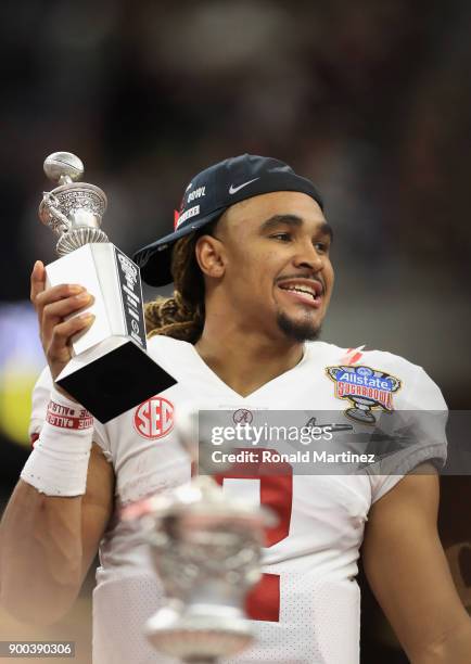
<svg viewBox="0 0 471 664"><path fill-rule="evenodd" d="M40 260L31 272L31 303L39 320L39 336L55 381L71 359L71 337L87 330L93 322L92 314L84 312L65 320L67 316L88 307L93 296L78 284L46 288L46 268Z"/></svg>

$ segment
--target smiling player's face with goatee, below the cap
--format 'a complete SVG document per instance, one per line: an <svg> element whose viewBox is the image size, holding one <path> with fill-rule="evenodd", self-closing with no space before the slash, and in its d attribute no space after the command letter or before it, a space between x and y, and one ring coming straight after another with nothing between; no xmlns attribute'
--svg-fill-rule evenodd
<svg viewBox="0 0 471 664"><path fill-rule="evenodd" d="M331 231L307 194L273 192L230 207L217 225L224 302L252 330L316 339L333 288Z"/></svg>

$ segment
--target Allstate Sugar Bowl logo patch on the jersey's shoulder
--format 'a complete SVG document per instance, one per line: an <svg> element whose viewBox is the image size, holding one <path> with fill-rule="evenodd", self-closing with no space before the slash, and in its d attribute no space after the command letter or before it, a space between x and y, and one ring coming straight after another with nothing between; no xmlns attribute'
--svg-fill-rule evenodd
<svg viewBox="0 0 471 664"><path fill-rule="evenodd" d="M402 381L385 371L370 367L327 367L327 375L335 383L338 399L347 399L352 407L345 414L365 424L375 424L372 410L391 412L393 394L402 386Z"/></svg>

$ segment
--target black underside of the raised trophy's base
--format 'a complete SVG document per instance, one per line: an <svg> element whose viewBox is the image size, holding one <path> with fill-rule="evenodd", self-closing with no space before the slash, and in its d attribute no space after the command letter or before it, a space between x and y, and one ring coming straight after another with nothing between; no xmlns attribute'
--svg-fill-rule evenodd
<svg viewBox="0 0 471 664"><path fill-rule="evenodd" d="M80 353L55 382L103 424L177 383L129 337Z"/></svg>

